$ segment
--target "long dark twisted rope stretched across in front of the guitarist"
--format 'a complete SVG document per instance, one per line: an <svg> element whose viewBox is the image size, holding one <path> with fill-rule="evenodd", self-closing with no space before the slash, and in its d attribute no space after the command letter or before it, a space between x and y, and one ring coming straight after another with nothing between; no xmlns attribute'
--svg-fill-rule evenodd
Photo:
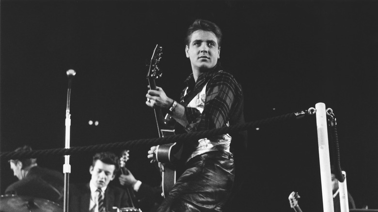
<svg viewBox="0 0 378 212"><path fill-rule="evenodd" d="M190 139L200 139L207 136L216 136L226 133L233 133L245 131L252 127L263 127L274 123L280 123L288 120L295 120L302 118L308 114L307 111L293 112L281 116L271 117L268 119L246 122L243 124L235 124L229 127L221 127L217 129L205 130L194 133L179 134L174 136L166 136L150 139L138 139L125 142L113 142L107 144L90 145L82 147L70 147L69 149L47 149L34 151L8 151L0 154L0 160L11 160L20 158L37 158L42 156L64 156L64 155L78 155L82 152L99 152L99 151L117 151L119 149L132 149L140 146L156 146L162 144L169 144L174 142L184 142Z"/></svg>

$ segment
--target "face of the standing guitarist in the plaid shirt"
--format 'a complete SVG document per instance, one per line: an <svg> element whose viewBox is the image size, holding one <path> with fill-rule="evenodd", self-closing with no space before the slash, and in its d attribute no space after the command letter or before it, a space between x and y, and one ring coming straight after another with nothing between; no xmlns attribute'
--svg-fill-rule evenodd
<svg viewBox="0 0 378 212"><path fill-rule="evenodd" d="M218 39L211 31L197 30L191 34L189 46L185 47L193 70L205 72L214 67L220 57Z"/></svg>

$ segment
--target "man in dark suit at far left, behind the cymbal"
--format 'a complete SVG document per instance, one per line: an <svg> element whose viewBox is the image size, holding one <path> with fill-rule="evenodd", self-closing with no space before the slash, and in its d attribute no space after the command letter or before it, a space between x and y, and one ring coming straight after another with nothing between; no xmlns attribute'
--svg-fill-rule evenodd
<svg viewBox="0 0 378 212"><path fill-rule="evenodd" d="M25 145L15 151L31 151L31 147ZM9 163L19 181L7 187L6 195L44 198L63 205L63 173L39 167L35 158L10 160Z"/></svg>

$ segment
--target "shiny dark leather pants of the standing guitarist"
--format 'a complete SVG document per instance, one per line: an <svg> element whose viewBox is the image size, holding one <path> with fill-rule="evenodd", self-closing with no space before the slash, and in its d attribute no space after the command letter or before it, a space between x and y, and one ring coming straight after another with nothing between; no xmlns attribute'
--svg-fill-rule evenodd
<svg viewBox="0 0 378 212"><path fill-rule="evenodd" d="M234 159L210 151L190 159L157 212L221 212L234 182Z"/></svg>

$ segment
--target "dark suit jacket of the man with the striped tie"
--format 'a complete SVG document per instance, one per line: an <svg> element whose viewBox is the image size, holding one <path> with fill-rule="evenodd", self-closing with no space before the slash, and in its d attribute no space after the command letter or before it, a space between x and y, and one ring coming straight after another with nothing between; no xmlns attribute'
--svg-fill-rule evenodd
<svg viewBox="0 0 378 212"><path fill-rule="evenodd" d="M91 199L91 189L89 183L76 184L69 194L69 212L89 212ZM112 207L126 208L130 206L130 197L125 189L108 185L105 190L104 203L107 211L112 211Z"/></svg>

